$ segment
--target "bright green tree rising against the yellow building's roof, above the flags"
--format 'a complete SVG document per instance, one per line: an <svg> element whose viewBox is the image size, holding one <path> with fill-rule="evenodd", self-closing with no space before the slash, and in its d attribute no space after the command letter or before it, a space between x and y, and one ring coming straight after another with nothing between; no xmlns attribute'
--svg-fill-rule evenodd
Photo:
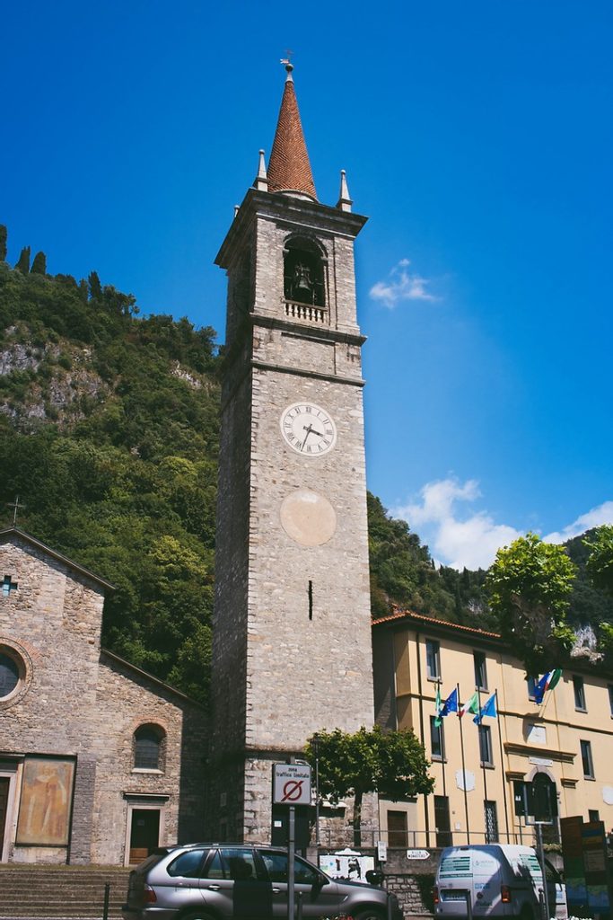
<svg viewBox="0 0 613 920"><path fill-rule="evenodd" d="M520 536L496 553L485 588L498 628L528 674L556 664L573 642L566 612L576 569L564 546Z"/></svg>

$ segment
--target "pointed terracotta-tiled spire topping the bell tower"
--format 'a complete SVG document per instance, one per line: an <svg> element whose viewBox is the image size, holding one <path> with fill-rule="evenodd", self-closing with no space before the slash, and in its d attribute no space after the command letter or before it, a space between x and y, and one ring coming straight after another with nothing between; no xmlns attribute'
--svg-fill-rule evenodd
<svg viewBox="0 0 613 920"><path fill-rule="evenodd" d="M268 191L298 191L317 201L311 164L302 133L301 114L291 77L292 65L285 68L285 82L277 133L268 161Z"/></svg>

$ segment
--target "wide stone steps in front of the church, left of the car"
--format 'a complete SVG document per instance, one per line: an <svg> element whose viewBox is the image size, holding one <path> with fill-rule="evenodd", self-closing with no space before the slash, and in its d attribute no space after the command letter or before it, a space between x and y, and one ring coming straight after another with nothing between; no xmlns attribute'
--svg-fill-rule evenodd
<svg viewBox="0 0 613 920"><path fill-rule="evenodd" d="M0 920L66 917L99 920L105 884L110 884L108 918L121 917L130 869L119 866L0 865Z"/></svg>

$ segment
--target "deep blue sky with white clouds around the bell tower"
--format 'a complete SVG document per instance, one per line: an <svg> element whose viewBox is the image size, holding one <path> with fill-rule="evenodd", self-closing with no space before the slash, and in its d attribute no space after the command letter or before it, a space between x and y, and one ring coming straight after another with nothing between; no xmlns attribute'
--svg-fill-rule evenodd
<svg viewBox="0 0 613 920"><path fill-rule="evenodd" d="M14 4L9 259L222 337L212 264L291 48L312 169L347 170L369 489L439 560L613 521L613 12L599 0Z"/></svg>

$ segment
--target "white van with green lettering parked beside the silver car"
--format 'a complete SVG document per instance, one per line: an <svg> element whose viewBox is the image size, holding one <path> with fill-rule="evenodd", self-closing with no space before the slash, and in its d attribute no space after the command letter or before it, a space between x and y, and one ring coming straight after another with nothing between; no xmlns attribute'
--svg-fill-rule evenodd
<svg viewBox="0 0 613 920"><path fill-rule="evenodd" d="M566 892L556 870L546 865L550 914L566 920ZM437 917L472 916L539 920L543 875L531 846L489 844L447 846L440 855L435 888Z"/></svg>

